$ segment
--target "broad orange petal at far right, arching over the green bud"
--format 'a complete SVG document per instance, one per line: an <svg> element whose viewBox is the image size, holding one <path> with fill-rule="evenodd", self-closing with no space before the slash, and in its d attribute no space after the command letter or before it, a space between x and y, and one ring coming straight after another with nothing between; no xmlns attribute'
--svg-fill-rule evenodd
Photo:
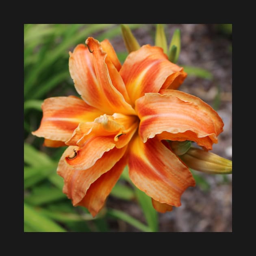
<svg viewBox="0 0 256 256"><path fill-rule="evenodd" d="M146 93L136 101L135 109L141 119L139 135L143 141L159 135L159 139L191 140L207 149L217 143L212 118L193 102L175 95Z"/></svg>

